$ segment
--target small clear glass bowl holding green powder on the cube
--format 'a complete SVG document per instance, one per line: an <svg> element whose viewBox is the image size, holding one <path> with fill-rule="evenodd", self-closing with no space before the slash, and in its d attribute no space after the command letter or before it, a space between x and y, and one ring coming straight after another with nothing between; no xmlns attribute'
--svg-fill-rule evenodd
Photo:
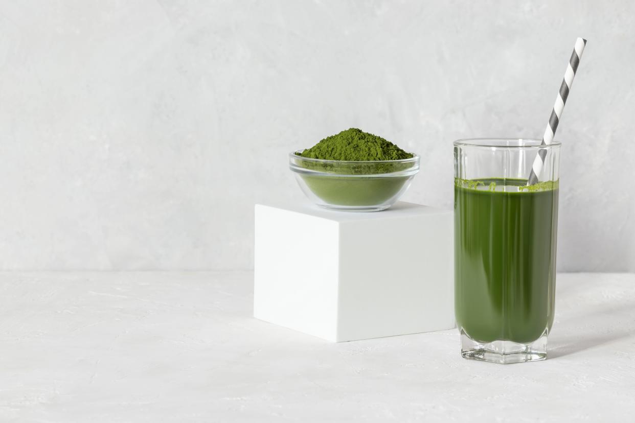
<svg viewBox="0 0 635 423"><path fill-rule="evenodd" d="M419 156L403 160L310 159L289 154L289 167L300 188L315 204L328 209L380 211L406 192L419 171Z"/></svg>

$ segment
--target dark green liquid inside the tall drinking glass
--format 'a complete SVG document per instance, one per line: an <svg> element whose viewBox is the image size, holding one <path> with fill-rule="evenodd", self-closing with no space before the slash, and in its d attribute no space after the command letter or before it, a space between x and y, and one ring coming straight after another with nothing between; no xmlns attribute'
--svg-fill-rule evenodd
<svg viewBox="0 0 635 423"><path fill-rule="evenodd" d="M551 330L558 181L455 179L455 313L477 342L533 342Z"/></svg>

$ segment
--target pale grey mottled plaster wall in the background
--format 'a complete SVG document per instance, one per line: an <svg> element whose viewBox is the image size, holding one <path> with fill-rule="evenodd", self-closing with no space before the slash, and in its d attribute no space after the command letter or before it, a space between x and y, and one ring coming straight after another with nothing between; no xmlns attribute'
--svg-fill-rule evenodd
<svg viewBox="0 0 635 423"><path fill-rule="evenodd" d="M422 155L561 120L559 268L635 271L635 6L599 1L1 1L0 268L248 268L286 153L361 127Z"/></svg>

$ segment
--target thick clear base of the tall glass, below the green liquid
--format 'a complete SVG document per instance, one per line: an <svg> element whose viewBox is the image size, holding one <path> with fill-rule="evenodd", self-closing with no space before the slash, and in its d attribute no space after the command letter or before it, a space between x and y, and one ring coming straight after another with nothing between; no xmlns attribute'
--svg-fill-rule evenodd
<svg viewBox="0 0 635 423"><path fill-rule="evenodd" d="M536 341L520 344L514 341L478 342L461 329L461 355L469 360L510 364L547 358L547 331Z"/></svg>

